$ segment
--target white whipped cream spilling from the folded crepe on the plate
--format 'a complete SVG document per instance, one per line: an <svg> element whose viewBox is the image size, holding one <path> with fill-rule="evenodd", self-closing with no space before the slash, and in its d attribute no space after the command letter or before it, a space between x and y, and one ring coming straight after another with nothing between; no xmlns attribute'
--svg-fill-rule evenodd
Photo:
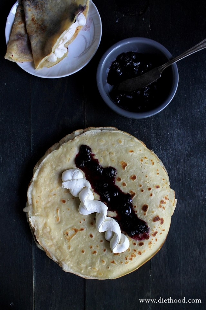
<svg viewBox="0 0 206 310"><path fill-rule="evenodd" d="M59 45L55 49L55 51L48 56L47 60L49 62L57 61L57 58L61 58L67 52L67 48L64 46L66 42L68 42L72 36L74 35L78 26L84 26L86 24L86 18L83 13L79 13L76 17L75 23L73 23L67 33L61 38Z"/></svg>

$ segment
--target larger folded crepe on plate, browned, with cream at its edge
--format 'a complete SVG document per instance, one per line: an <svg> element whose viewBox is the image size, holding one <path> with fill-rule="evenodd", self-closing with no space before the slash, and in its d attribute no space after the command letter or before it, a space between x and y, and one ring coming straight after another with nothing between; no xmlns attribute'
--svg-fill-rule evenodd
<svg viewBox="0 0 206 310"><path fill-rule="evenodd" d="M23 6L36 69L57 64L68 52L52 63L47 58L74 23L78 13L82 11L87 16L89 0L23 0ZM74 37L81 29L78 27Z"/></svg>

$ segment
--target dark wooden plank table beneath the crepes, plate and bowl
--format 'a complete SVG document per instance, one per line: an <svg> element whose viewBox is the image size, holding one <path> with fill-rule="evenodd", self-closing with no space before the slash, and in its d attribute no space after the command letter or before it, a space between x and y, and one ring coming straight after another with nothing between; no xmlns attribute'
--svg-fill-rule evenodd
<svg viewBox="0 0 206 310"><path fill-rule="evenodd" d="M151 38L176 56L206 38L206 2L149 0L144 11L137 0L128 11L129 2L94 0L103 26L99 49L86 67L59 79L32 76L4 59L6 18L15 0L0 2L1 310L206 308L206 50L178 63L177 93L153 117L115 114L96 85L101 56L121 39ZM68 133L88 126L116 126L144 141L165 164L178 199L163 248L116 280L85 280L62 271L36 247L23 212L38 159Z"/></svg>

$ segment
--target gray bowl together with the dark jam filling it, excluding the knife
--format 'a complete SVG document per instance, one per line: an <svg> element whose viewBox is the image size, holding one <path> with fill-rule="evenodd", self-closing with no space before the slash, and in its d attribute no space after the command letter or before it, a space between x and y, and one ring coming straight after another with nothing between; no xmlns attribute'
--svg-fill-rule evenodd
<svg viewBox="0 0 206 310"><path fill-rule="evenodd" d="M124 39L101 58L97 69L97 86L106 104L125 117L145 118L162 111L173 99L178 87L177 65L165 69L155 82L131 93L119 91L117 85L158 67L172 58L160 43L147 38Z"/></svg>

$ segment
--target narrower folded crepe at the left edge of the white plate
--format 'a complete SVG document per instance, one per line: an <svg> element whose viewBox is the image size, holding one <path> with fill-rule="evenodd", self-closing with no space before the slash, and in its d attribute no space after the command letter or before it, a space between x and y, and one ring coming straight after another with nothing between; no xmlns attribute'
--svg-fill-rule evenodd
<svg viewBox="0 0 206 310"><path fill-rule="evenodd" d="M28 38L23 5L19 4L5 58L14 62L33 61L31 43Z"/></svg>

